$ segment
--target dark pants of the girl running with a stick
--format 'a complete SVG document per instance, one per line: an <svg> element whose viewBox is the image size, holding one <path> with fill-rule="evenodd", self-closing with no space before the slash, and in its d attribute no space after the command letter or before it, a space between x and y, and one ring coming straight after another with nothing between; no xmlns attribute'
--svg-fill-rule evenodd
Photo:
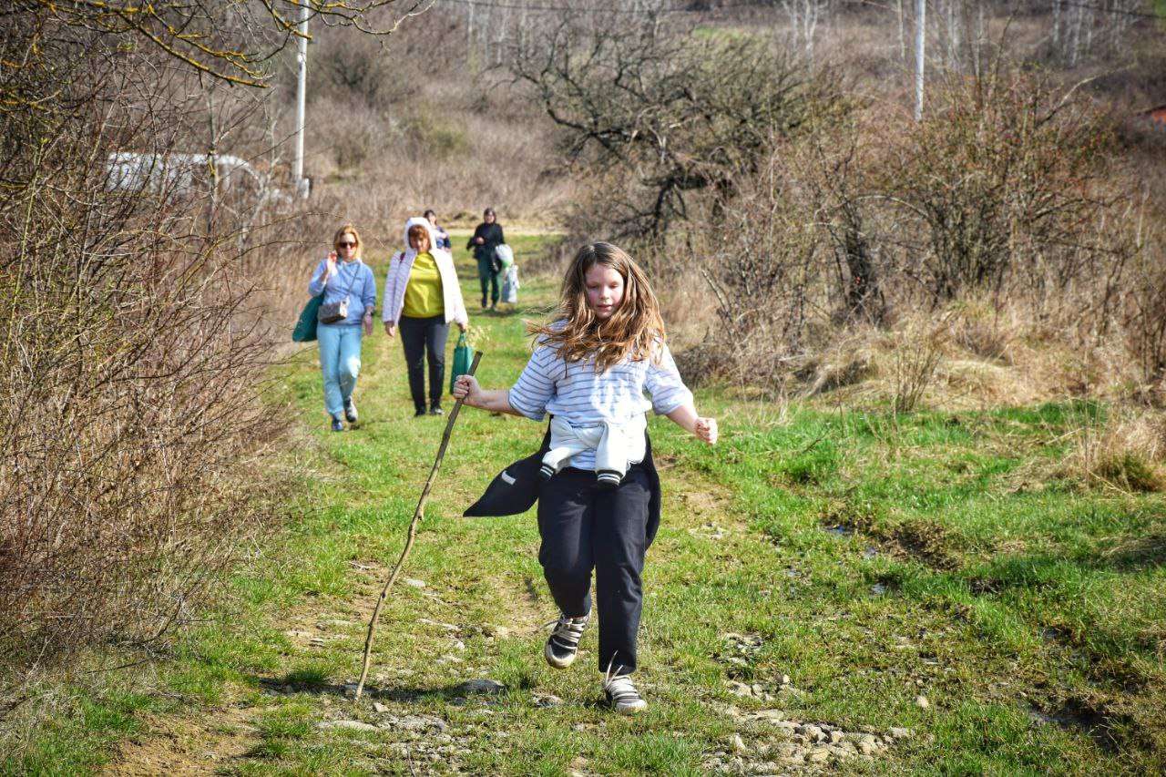
<svg viewBox="0 0 1166 777"><path fill-rule="evenodd" d="M564 615L591 611L595 569L600 672L635 670L651 496L648 476L639 466L616 490L598 488L592 471L567 467L539 491L539 562Z"/></svg>

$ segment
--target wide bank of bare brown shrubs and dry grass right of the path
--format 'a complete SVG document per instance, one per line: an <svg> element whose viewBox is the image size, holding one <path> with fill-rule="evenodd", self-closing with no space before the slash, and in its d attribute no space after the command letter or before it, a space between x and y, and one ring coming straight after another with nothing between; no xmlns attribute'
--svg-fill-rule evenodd
<svg viewBox="0 0 1166 777"><path fill-rule="evenodd" d="M995 379L971 362L940 369L930 327L944 321L941 340L979 359L1032 358L1031 346L1017 348L1024 332L1051 352L1098 354L1089 374L1121 382L1122 368L1105 362L1121 358L1111 335L1122 312L1126 330L1144 326L1130 343L1152 370L1161 284L1149 265L1131 264L1153 252L1139 237L1144 210L1119 197L1130 181L1105 119L1003 66L985 78L936 90L932 124L871 106L777 140L760 173L738 176L739 195L705 217L704 233L688 233L684 254L718 300L712 342L747 359L723 372L786 379L793 370L821 388L830 378L809 366L842 362L816 355L873 324L904 349L879 373L893 373L886 391L905 411L936 382L979 391ZM1140 296L1135 274L1147 281ZM764 352L749 350L756 342ZM1045 366L1030 376L1052 392L1076 391ZM1104 380L1089 391L1112 385Z"/></svg>

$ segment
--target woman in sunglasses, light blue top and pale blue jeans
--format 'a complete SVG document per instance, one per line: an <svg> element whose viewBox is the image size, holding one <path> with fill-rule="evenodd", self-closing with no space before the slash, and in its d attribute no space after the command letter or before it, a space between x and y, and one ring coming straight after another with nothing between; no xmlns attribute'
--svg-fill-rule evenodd
<svg viewBox="0 0 1166 777"><path fill-rule="evenodd" d="M360 261L360 235L345 224L332 238L333 250L321 260L308 284L312 296L324 294L323 304L349 301L340 321L316 324L319 341L319 369L324 374L324 410L332 419L332 432L343 432L344 421L357 422L352 390L360 373L360 341L372 334L372 309L377 303L377 280Z"/></svg>

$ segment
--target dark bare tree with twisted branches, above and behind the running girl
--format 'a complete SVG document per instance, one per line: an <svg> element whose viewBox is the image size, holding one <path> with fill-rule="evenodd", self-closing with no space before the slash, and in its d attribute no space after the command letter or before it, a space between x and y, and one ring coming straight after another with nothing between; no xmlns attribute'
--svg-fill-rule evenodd
<svg viewBox="0 0 1166 777"><path fill-rule="evenodd" d="M694 196L723 198L756 172L774 136L848 110L828 78L763 42L683 35L651 14L618 28L569 16L528 40L510 71L561 128L566 162L602 182L614 237L660 239Z"/></svg>

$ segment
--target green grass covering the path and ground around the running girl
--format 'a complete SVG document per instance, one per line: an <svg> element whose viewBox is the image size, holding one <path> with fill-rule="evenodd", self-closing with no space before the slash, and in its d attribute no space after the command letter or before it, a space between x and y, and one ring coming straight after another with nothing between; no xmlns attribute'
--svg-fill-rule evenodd
<svg viewBox="0 0 1166 777"><path fill-rule="evenodd" d="M515 239L520 261L538 242ZM552 301L557 280L524 278L522 309L478 314L471 262L458 260L485 351L479 378L508 385L526 358L521 318ZM423 772L419 743L433 740L450 748L438 766L476 774L695 775L711 755L732 755L736 732L753 749L768 741L728 716L730 705L915 732L872 765L845 768L856 772L1166 768L1166 504L1049 474L1067 432L1104 421L1096 402L898 418L795 404L778 414L710 390L698 407L722 421L716 448L653 420L665 514L645 572L652 707L635 720L599 705L593 628L570 671L543 663L539 625L555 611L533 516L459 517L503 464L534 449L541 426L466 410L405 570L426 587L394 590L371 673L392 714L436 716L449 741L322 730L338 716L378 720L338 688L359 672L367 614L444 419L412 418L400 345L378 331L364 349L361 428L332 434L314 359L304 349L279 373L302 419L282 462L304 473L288 525L232 576L231 606L146 684L181 704L87 699L77 708L91 713L42 729L6 771L94 768L118 741L149 740L146 713L188 719L211 740L206 723L243 708L253 730L226 766L239 774ZM760 646L729 662L726 632ZM779 688L781 674L793 690ZM463 700L457 685L476 677L508 691ZM739 699L729 679L777 698ZM534 694L563 704L543 708Z"/></svg>

